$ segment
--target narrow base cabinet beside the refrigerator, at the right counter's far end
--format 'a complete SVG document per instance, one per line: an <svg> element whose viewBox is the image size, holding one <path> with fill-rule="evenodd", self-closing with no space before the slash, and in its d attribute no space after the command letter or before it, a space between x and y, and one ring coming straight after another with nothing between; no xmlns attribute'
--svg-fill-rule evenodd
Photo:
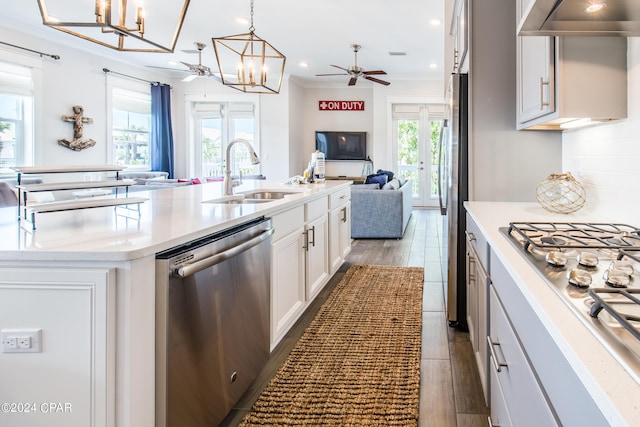
<svg viewBox="0 0 640 427"><path fill-rule="evenodd" d="M470 215L467 214L467 325L476 358L485 402L489 404L487 379L487 331L489 292L489 245Z"/></svg>

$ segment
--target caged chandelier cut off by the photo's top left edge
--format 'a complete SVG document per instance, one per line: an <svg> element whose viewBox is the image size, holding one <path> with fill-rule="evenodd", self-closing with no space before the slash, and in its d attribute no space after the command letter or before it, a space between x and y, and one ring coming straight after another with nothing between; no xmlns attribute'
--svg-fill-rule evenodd
<svg viewBox="0 0 640 427"><path fill-rule="evenodd" d="M42 23L123 52L173 52L190 0L38 0Z"/></svg>

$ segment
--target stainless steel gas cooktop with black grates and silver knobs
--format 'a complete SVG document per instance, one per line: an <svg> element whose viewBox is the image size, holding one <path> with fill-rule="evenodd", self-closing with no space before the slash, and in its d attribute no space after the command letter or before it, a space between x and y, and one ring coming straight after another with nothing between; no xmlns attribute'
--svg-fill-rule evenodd
<svg viewBox="0 0 640 427"><path fill-rule="evenodd" d="M500 231L640 383L640 229L512 222Z"/></svg>

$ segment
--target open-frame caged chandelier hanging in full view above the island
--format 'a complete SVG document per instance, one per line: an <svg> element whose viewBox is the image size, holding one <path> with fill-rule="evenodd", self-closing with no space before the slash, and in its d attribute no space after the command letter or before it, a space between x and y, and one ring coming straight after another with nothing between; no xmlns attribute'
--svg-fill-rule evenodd
<svg viewBox="0 0 640 427"><path fill-rule="evenodd" d="M254 33L213 38L222 84L246 93L279 93L286 58Z"/></svg>

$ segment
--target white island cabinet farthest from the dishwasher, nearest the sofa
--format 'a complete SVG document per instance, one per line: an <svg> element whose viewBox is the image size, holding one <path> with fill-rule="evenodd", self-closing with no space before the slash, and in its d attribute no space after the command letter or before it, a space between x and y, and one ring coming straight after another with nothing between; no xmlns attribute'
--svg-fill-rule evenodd
<svg viewBox="0 0 640 427"><path fill-rule="evenodd" d="M329 197L329 272L335 273L351 252L351 189Z"/></svg>

